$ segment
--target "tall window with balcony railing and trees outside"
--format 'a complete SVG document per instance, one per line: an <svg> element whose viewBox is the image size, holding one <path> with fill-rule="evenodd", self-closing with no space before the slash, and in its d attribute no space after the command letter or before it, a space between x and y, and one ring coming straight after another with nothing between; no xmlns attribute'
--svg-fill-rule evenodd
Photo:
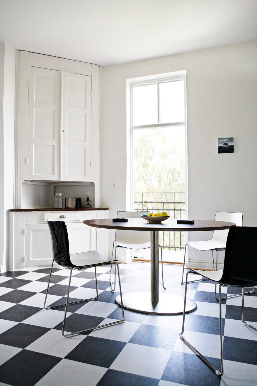
<svg viewBox="0 0 257 386"><path fill-rule="evenodd" d="M185 218L185 71L128 80L128 86L132 208ZM179 238L167 247L181 251Z"/></svg>

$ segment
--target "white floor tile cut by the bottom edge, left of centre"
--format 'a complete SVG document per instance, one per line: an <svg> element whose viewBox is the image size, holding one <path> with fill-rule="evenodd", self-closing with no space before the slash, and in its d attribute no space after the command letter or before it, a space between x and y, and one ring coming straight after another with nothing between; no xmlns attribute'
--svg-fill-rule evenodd
<svg viewBox="0 0 257 386"><path fill-rule="evenodd" d="M35 386L96 386L107 370L105 367L62 359Z"/></svg>

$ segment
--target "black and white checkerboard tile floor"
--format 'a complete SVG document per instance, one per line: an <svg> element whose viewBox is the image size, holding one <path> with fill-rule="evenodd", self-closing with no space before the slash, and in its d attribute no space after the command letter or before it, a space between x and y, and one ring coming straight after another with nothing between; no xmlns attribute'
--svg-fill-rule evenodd
<svg viewBox="0 0 257 386"><path fill-rule="evenodd" d="M246 386L257 385L257 332L241 322L241 296L224 300L224 375L218 378L181 341L181 315L125 311L126 322L64 338L64 307L44 310L50 269L0 274L0 385ZM148 262L120 264L123 292L149 290ZM183 295L181 266L164 265L166 292ZM68 309L67 332L120 319L109 268L97 268L99 298ZM69 270L54 268L49 304L63 303ZM74 272L71 300L94 293L94 270ZM117 286L118 291L118 286ZM160 286L160 291L163 291ZM186 316L185 336L217 366L218 303L208 281L189 284L197 310ZM224 293L235 293L235 288ZM245 296L245 319L257 327L257 290Z"/></svg>

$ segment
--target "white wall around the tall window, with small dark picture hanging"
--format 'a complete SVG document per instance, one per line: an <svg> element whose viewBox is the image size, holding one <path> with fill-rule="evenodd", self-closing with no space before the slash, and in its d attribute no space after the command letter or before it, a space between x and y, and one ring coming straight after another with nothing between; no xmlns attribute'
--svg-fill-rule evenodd
<svg viewBox="0 0 257 386"><path fill-rule="evenodd" d="M188 217L243 212L243 225L257 226L256 63L251 42L101 68L100 185L110 217L126 210L126 80L186 70ZM234 137L234 153L218 154L220 137Z"/></svg>

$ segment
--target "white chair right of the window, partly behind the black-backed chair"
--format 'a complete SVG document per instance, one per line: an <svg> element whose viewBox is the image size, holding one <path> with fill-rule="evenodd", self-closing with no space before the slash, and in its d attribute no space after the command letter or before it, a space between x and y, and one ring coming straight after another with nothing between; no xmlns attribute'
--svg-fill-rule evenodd
<svg viewBox="0 0 257 386"><path fill-rule="evenodd" d="M214 220L233 222L233 223L237 224L237 227L242 227L243 213L241 213L241 212L235 212L235 213L234 212L216 212ZM217 271L218 251L225 251L226 242L227 242L227 235L228 235L228 229L215 230L213 232L212 238L210 240L188 241L186 243L181 284L185 284L185 282L183 282L183 276L184 276L184 270L185 270L186 246L189 245L190 247L197 249L197 251L212 251L212 267L213 267L213 271ZM214 255L213 255L214 251L216 251L215 264L214 264ZM195 281L202 281L202 280L207 280L207 279L192 280L192 281L189 281L188 283L193 283ZM237 295L232 295L232 296L237 296ZM232 297L232 296L227 296L227 297ZM218 298L216 296L216 286L215 286L215 298L218 300ZM223 298L223 299L225 299L225 298Z"/></svg>

